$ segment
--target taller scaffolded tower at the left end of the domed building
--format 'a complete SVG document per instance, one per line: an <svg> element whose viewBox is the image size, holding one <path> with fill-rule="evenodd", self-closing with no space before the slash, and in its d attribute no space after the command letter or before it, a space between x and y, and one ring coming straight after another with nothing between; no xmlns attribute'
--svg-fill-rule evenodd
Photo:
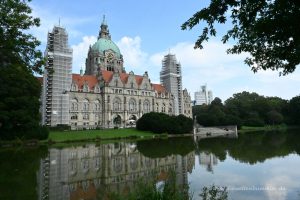
<svg viewBox="0 0 300 200"><path fill-rule="evenodd" d="M42 94L44 125L69 124L69 94L66 92L70 90L72 80L72 53L66 30L55 26L48 33L45 51Z"/></svg>

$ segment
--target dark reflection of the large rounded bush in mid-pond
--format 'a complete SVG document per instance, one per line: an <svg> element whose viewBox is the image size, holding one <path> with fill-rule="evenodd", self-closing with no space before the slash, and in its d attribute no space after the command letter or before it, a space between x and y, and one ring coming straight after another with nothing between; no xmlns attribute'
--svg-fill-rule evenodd
<svg viewBox="0 0 300 200"><path fill-rule="evenodd" d="M150 158L163 158L178 154L185 156L195 150L191 137L169 139L141 140L137 142L138 151Z"/></svg>

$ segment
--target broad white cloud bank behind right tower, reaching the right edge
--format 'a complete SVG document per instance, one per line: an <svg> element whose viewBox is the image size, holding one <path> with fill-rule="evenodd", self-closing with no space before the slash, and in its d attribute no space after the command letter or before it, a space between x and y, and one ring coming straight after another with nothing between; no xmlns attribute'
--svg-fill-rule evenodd
<svg viewBox="0 0 300 200"><path fill-rule="evenodd" d="M253 73L244 64L247 54L227 54L226 50L230 47L229 44L210 40L201 50L194 49L193 42L180 42L170 48L171 54L175 54L181 63L183 86L191 92L192 99L194 92L204 84L222 100L242 91L284 99L296 96L297 91L300 93L297 88L300 85L299 69L286 77L279 77L277 71L270 70ZM161 66L161 60L168 53L155 53L150 56L149 62Z"/></svg>

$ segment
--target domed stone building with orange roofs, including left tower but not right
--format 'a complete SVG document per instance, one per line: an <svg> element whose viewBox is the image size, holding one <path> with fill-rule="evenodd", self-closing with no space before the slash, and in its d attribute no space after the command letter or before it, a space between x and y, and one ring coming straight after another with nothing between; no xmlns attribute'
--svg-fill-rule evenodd
<svg viewBox="0 0 300 200"><path fill-rule="evenodd" d="M85 73L71 73L72 50L67 38L62 27L54 27L48 34L41 98L44 125L67 124L72 129L129 127L148 112L175 115L174 95L164 85L152 83L147 72L126 72L105 19L97 42L89 47ZM182 94L188 102L183 105L190 106L189 94ZM182 110L185 112L176 114L192 117L191 107Z"/></svg>

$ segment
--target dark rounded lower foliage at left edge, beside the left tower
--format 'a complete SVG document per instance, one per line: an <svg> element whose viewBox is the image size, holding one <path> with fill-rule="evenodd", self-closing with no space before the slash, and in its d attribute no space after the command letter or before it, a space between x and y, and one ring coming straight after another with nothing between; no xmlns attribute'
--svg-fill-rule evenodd
<svg viewBox="0 0 300 200"><path fill-rule="evenodd" d="M0 138L46 137L48 131L39 125L40 91L38 80L27 68L0 68Z"/></svg>

